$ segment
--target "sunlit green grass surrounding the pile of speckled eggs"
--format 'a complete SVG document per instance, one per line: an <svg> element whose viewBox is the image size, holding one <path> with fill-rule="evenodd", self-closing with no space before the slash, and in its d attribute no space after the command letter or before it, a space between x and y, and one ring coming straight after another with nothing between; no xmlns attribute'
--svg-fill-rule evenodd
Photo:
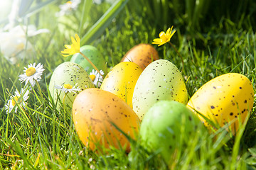
<svg viewBox="0 0 256 170"><path fill-rule="evenodd" d="M138 15L129 5L91 43L102 52L108 67L117 64L134 45L151 43L158 37L159 30L166 29L166 26L151 25L146 16ZM63 18L66 23L61 21L62 24L53 22L57 20L53 16L58 6L50 4L48 7L40 11L39 17L31 16L31 23L38 21L39 28L51 31L47 36L42 34L28 39L35 48L34 57L12 65L0 55L0 169L256 169L255 106L236 137L223 129L218 130L217 135L198 132L183 152L177 150L171 164L164 162L159 150L149 152L143 148L139 139L133 143L129 154L112 149L108 154L97 155L87 149L75 132L72 114L56 109L47 87L55 67L67 60L60 51L64 44L70 44L70 35L74 36L76 31L80 31L80 37L85 35L110 5L92 4L93 15L83 26L80 22L83 6L73 16ZM179 27L174 26L176 33L171 42L183 56L182 74L189 96L210 79L228 72L244 74L255 88L256 35L250 19L245 17L233 22L223 18L207 33L196 32L195 35L183 33L186 26ZM182 70L181 58L170 45L154 47L161 58ZM24 86L18 81L18 75L23 67L33 62L41 62L46 69L39 81L43 96L35 86L25 112L6 114L4 103L9 100L8 91L14 94Z"/></svg>

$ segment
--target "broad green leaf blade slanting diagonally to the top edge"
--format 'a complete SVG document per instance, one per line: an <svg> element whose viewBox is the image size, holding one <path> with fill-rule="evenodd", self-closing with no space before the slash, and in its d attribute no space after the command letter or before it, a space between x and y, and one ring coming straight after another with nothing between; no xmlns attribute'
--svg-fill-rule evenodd
<svg viewBox="0 0 256 170"><path fill-rule="evenodd" d="M122 8L129 0L118 0L103 14L103 16L88 30L88 32L81 38L81 45L88 44L99 37L102 32L110 25L114 17L122 11Z"/></svg>

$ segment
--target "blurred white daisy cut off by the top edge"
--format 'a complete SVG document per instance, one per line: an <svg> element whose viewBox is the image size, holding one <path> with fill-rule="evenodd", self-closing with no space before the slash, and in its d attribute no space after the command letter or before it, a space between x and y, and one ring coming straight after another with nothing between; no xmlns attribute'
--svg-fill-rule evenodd
<svg viewBox="0 0 256 170"><path fill-rule="evenodd" d="M55 16L65 16L66 14L70 14L78 8L80 2L81 0L67 1L65 4L60 5L60 11L55 13Z"/></svg>

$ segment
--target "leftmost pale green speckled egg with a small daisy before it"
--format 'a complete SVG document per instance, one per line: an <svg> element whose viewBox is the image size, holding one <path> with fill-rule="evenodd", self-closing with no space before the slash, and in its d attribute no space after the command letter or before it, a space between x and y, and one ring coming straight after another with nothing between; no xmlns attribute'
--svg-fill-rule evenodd
<svg viewBox="0 0 256 170"><path fill-rule="evenodd" d="M58 65L50 77L49 91L58 109L63 108L63 105L65 108L71 108L78 93L90 87L94 85L85 69L73 62ZM64 89L70 92L65 93Z"/></svg>

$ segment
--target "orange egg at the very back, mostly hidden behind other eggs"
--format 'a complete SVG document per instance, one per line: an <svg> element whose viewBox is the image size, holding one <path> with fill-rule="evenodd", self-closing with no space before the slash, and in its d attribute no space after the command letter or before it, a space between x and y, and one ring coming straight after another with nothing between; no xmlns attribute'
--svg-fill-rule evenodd
<svg viewBox="0 0 256 170"><path fill-rule="evenodd" d="M159 60L156 49L150 44L139 44L132 47L122 57L121 62L134 62L142 69L145 69L154 60Z"/></svg>

